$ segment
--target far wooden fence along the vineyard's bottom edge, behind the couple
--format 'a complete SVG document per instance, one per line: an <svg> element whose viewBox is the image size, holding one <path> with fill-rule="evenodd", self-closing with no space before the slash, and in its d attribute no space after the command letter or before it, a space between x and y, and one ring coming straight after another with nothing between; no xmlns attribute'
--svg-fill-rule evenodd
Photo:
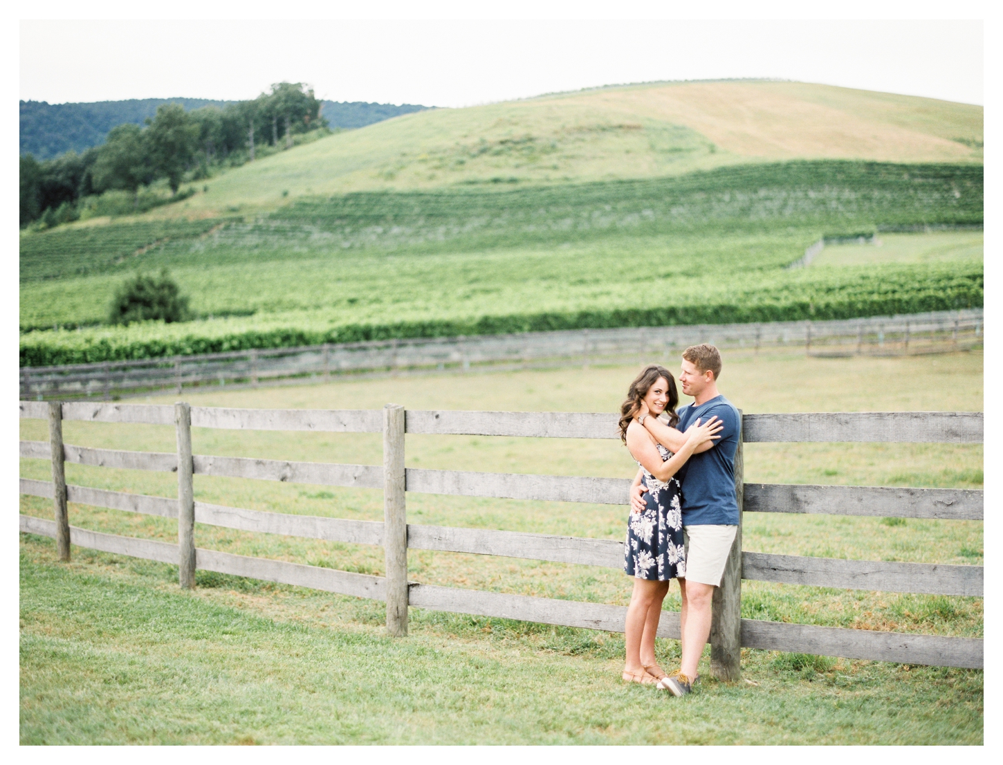
<svg viewBox="0 0 1003 765"><path fill-rule="evenodd" d="M804 348L814 356L939 353L981 347L982 310L941 311L820 322L630 327L526 332L516 335L413 338L22 367L22 399L144 395L150 390L329 380L332 375L512 369L566 364L650 361L690 345L719 348Z"/></svg>

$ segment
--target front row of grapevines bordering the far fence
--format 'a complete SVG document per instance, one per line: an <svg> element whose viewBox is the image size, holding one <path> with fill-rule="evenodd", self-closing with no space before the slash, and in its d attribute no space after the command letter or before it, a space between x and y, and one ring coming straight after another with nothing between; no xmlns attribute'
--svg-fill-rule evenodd
<svg viewBox="0 0 1003 765"><path fill-rule="evenodd" d="M983 305L981 265L828 269L748 275L700 292L667 296L662 305L602 305L580 311L513 311L406 321L333 322L323 310L187 324L31 332L21 336L22 366L159 358L250 348L386 338L443 337L557 329L849 319ZM436 316L436 313L438 315Z"/></svg>

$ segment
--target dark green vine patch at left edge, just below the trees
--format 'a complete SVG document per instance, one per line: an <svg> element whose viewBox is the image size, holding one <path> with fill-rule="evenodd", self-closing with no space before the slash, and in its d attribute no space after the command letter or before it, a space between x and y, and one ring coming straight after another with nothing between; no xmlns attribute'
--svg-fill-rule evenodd
<svg viewBox="0 0 1003 765"><path fill-rule="evenodd" d="M154 245L171 240L193 240L222 221L141 221L113 226L87 226L21 235L22 284L42 279L67 279L102 273L116 265L130 265Z"/></svg>

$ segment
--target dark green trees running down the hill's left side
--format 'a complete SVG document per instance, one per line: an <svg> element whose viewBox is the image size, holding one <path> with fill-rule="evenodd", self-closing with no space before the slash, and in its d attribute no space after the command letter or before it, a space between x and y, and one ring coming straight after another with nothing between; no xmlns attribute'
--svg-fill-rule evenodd
<svg viewBox="0 0 1003 765"><path fill-rule="evenodd" d="M319 128L321 101L300 82L280 82L271 91L224 108L186 111L161 104L145 125L119 124L100 146L38 161L21 156L21 227L40 221L54 226L75 220L83 198L109 189L129 193L138 207L139 189L165 179L173 196L185 180L208 177L214 166L255 158L256 146L293 144L293 136Z"/></svg>

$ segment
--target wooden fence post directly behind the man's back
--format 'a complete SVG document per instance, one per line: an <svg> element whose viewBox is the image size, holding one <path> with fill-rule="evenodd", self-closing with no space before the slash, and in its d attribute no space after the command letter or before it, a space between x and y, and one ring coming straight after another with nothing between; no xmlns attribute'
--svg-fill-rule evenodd
<svg viewBox="0 0 1003 765"><path fill-rule="evenodd" d="M742 411L738 410L738 446L735 449L735 496L738 499L738 531L724 565L721 586L714 590L710 618L710 674L718 680L741 678L742 616L742 509L744 465L742 457Z"/></svg>

